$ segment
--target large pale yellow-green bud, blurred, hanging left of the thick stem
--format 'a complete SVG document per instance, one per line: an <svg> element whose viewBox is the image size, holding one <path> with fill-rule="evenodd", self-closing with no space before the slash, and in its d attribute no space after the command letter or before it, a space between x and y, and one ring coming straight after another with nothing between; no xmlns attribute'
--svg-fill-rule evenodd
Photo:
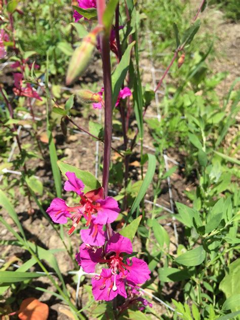
<svg viewBox="0 0 240 320"><path fill-rule="evenodd" d="M96 28L83 39L81 46L73 52L67 70L67 85L70 85L73 80L79 77L88 67L93 50L97 44L97 35L101 30L102 26L96 26Z"/></svg>

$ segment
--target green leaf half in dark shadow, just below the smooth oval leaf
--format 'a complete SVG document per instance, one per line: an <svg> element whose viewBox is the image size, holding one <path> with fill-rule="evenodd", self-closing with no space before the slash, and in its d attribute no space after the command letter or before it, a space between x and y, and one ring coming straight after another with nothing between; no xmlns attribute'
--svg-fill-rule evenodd
<svg viewBox="0 0 240 320"><path fill-rule="evenodd" d="M191 277L191 273L187 270L179 270L177 268L163 267L157 270L160 281L178 282Z"/></svg>

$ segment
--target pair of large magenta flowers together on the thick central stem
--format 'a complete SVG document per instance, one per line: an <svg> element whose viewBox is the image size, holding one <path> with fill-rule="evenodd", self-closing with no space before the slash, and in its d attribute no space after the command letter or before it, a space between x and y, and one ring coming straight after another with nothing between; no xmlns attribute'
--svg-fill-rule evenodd
<svg viewBox="0 0 240 320"><path fill-rule="evenodd" d="M133 248L129 238L119 233L107 239L104 225L113 222L120 211L112 197L103 196L103 188L84 193L85 185L73 172L66 172L64 190L73 191L79 196L79 203L69 207L61 198L53 199L47 213L56 223L72 220L70 235L78 223L85 219L86 227L80 231L83 244L76 254L76 260L87 273L94 273L97 264L104 265L101 273L92 278L92 291L95 300L109 301L118 294L132 300L144 308L148 303L137 291L137 285L150 278L150 270L145 261L132 255ZM127 291L126 291L127 288ZM134 298L133 298L134 297ZM143 300L141 300L143 299ZM131 300L131 301L132 301ZM130 300L129 300L130 301Z"/></svg>

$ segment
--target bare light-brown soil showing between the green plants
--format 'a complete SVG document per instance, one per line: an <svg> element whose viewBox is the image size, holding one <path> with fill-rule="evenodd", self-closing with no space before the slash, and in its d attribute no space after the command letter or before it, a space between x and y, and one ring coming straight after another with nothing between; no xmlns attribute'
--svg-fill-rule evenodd
<svg viewBox="0 0 240 320"><path fill-rule="evenodd" d="M213 62L211 62L211 67L213 68L214 72L219 71L228 71L229 74L226 77L226 80L224 83L220 84L217 88L219 95L224 96L227 91L229 90L233 80L239 76L239 47L240 47L240 24L232 24L228 23L223 20L222 13L219 11L216 11L215 9L209 9L206 10L205 18L209 19L211 17L211 24L207 24L207 28L211 28L212 25L216 28L216 34L219 37L219 42L217 43L217 54ZM102 72L100 67L100 60L95 60L95 63L98 64L97 72L96 70L96 64L94 66L91 66L88 70L86 76L82 78L82 83L92 83L93 81L97 81L97 88L101 88L102 86ZM152 83L152 73L151 73L151 64L149 59L143 59L141 60L142 64L142 71L143 71L143 82L144 83ZM156 63L155 68L160 68L161 62ZM160 74L156 74L157 80L159 80ZM6 69L5 77L3 78L3 83L5 85L8 85L9 88L12 84L12 78L9 75L9 69ZM74 89L79 88L79 84L74 86ZM161 100L162 95L159 95L159 99ZM76 114L74 115L74 122L76 122L79 126L82 128L88 129L88 123L89 120L92 119L93 121L98 121L100 119L100 114L98 110L92 109L90 107L88 109L88 112L84 109L84 107L79 103L79 101L75 101L75 110ZM44 112L45 112L45 106L41 106L36 104L34 107L35 116L43 118ZM147 111L146 114L148 117L154 116L156 117L156 105L153 102ZM101 122L103 122L103 116L101 117ZM132 126L135 126L135 123L132 123ZM59 157L67 163L70 163L73 166L76 166L82 170L88 170L95 173L95 159L96 159L96 150L97 150L97 143L95 140L93 140L88 135L85 135L83 133L76 133L73 132L72 125L69 126L71 129L68 130L67 137L64 137L64 135L61 132L60 126L59 126L59 119L58 119L58 125L56 127L55 135L55 141L56 141L56 147L59 150ZM43 128L43 127L42 127ZM148 153L154 153L153 150L153 144L152 144L152 138L150 133L148 132L148 129L146 127L146 135L144 137L144 145L145 149ZM43 129L42 129L43 130ZM39 132L41 134L43 132ZM231 134L231 133L229 133ZM233 133L234 134L234 133ZM117 136L117 132L114 133L114 135ZM21 141L23 144L30 143L32 146L36 147L36 143L33 142L31 135L29 134L29 130L26 128L22 129L21 133ZM39 158L31 158L27 162L27 169L34 170L35 175L39 177L39 179L42 180L44 185L48 188L44 190L44 194L40 197L41 201L44 203L44 208L46 209L47 203L52 199L53 194L51 194L48 189L54 190L54 184L53 184L53 177L51 173L51 167L50 167L50 159L48 157L48 150L47 145L44 143L41 143L44 155L45 155L45 161L43 159ZM121 146L122 141L114 140L113 146L116 148L117 146ZM149 149L150 148L150 149ZM17 156L17 149L15 150L14 157ZM103 154L103 146L101 143L99 143L99 166L102 163L102 154ZM182 165L182 158L184 157L183 154L176 153L176 150L169 149L167 151L167 155L172 158L174 161L177 161ZM115 160L116 154L112 152L112 158ZM140 179L140 166L137 162L139 162L140 159L140 148L136 146L134 156L131 158L131 163L134 163L134 165L131 166L131 172L130 174L133 175L136 180ZM98 167L99 167L98 166ZM174 166L174 164L169 161L169 167L171 168ZM146 171L146 168L145 168ZM16 176L13 174L8 174L8 181L9 186L14 183L14 179ZM98 170L98 178L101 181L101 171ZM171 189L172 189L172 198L176 202L181 202L184 204L189 204L189 200L186 197L184 191L185 190L192 190L195 187L195 181L189 181L184 178L182 174L181 166L179 166L179 169L177 172L175 172L171 176ZM175 208L171 208L170 203L170 195L169 195L169 184L167 181L163 182L162 186L162 193L161 196L157 199L157 203L159 205L162 205L166 207L169 210L175 210ZM118 190L113 190L118 191ZM67 195L64 195L66 200L71 202L72 199L70 196L67 197ZM21 225L26 232L27 238L30 242L41 246L45 249L63 249L62 242L59 239L59 236L55 231L53 231L53 228L49 221L43 216L41 211L38 210L37 205L32 202L32 207L34 209L34 213L32 215L28 214L29 204L26 201L25 196L22 193L21 188L16 185L14 187L14 198L16 199L15 202L15 210L18 214L18 217L20 219ZM152 201L153 195L152 195L152 188L150 187L147 191L147 194L145 196L146 200ZM151 205L146 204L146 213L150 216L151 212ZM165 210L162 211L162 214L168 214ZM15 224L13 220L9 217L8 213L3 210L2 212L3 218L8 222L11 227L14 230L17 230L15 227ZM162 220L163 224L172 223L171 217L168 219ZM173 224L166 225L166 229L170 235L171 239L171 254L176 254L176 238L173 230ZM177 223L177 230L181 238L182 233L182 226ZM1 239L3 241L10 241L14 240L14 237L12 234L5 228L2 227L0 230ZM68 236L65 235L65 238ZM79 235L73 234L70 237L70 243L73 248L73 250L77 250L79 246ZM140 251L141 246L139 241L136 240L134 243L134 251ZM72 260L67 255L65 251L60 251L55 253L55 256L57 258L59 268L61 270L61 273L64 276L64 280L67 284L67 289L71 292L73 301L75 300L75 288L76 284L73 283L72 278L68 275L69 271L77 270L76 266L73 265ZM21 261L18 261L17 263L21 265L23 261L27 261L30 256L22 250L18 246L13 245L4 245L2 247L2 254L1 258L4 259L6 262L12 259L13 257L17 257L21 259ZM51 267L46 264L46 267L49 271L54 271L51 269ZM15 269L15 268L13 268ZM31 271L41 271L38 267L31 268ZM87 280L88 281L88 280ZM52 296L49 293L43 293L41 291L37 291L34 289L34 287L42 287L50 291L54 291L53 286L48 281L46 277L39 277L37 280L34 280L31 283L31 288L27 287L27 290L19 291L16 293L16 301L11 305L12 310L16 310L18 303L20 300L27 298L27 297L36 297L40 299L42 302L46 302L50 306L50 316L49 319L70 319L71 317L67 315L67 307L60 301L58 298ZM175 298L179 295L179 288L175 286L165 286L162 290L162 295L164 297L165 301L169 301L169 304L171 304L171 298ZM79 295L82 297L81 305L84 306L86 303L86 294L83 293L82 287L80 290ZM9 297L9 292L7 293L6 297ZM159 296L161 298L161 296ZM149 299L150 300L150 299ZM153 309L158 315L162 315L166 313L166 309L159 303L156 303L155 301L151 301L153 303ZM153 319L155 319L155 316L152 316ZM94 319L94 317L92 317Z"/></svg>

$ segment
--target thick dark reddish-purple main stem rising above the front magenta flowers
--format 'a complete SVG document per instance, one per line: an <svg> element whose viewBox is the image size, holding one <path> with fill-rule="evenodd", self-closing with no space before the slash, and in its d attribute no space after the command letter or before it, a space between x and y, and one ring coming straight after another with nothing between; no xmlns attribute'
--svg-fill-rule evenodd
<svg viewBox="0 0 240 320"><path fill-rule="evenodd" d="M103 13L106 8L105 0L97 0L98 23L103 24ZM111 138L112 138L112 84L111 84L111 63L110 63L110 46L109 35L103 32L100 35L100 48L102 55L103 67L103 85L104 85L104 152L103 152L103 178L102 186L104 188L105 197L108 194L108 180L111 156ZM107 224L108 237L112 235L112 228Z"/></svg>

